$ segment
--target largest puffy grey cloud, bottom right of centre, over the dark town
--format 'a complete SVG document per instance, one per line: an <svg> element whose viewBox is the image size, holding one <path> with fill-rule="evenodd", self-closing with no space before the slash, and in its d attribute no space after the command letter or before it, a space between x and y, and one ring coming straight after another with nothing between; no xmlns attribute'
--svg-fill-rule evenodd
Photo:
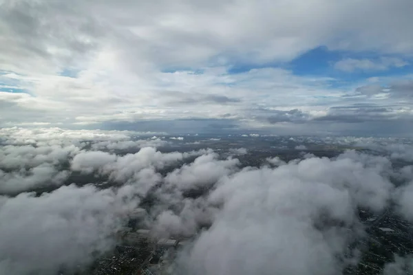
<svg viewBox="0 0 413 275"><path fill-rule="evenodd" d="M361 234L357 206L380 211L392 190L381 176L383 166L363 161L354 153L336 160L312 157L222 179L209 197L222 209L182 256L182 269L189 274L340 273L344 263L335 255L343 256L352 234ZM297 265L290 265L292 256Z"/></svg>

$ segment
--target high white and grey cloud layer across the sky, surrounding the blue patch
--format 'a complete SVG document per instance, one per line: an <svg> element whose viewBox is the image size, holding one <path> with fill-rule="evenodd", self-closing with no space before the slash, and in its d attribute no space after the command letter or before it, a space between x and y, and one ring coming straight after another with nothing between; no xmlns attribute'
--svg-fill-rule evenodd
<svg viewBox="0 0 413 275"><path fill-rule="evenodd" d="M268 107L298 109L313 118L327 105L347 102L340 96L348 93L332 88L332 78L295 76L281 68L240 74L230 69L286 64L320 46L385 56L353 59L344 64L348 70L403 67L413 48L406 40L409 5L405 0L397 5L372 0L5 2L0 85L23 93L0 92L0 124L100 127L202 118L268 130L274 128L262 122ZM301 120L277 123L277 130L292 131L284 124Z"/></svg>

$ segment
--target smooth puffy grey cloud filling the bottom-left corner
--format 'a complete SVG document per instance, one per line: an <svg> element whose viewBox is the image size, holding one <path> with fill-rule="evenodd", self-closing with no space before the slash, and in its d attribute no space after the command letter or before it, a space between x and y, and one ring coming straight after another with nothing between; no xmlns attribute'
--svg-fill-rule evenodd
<svg viewBox="0 0 413 275"><path fill-rule="evenodd" d="M0 272L56 274L114 247L114 234L138 201L126 190L63 186L36 197L0 197Z"/></svg>

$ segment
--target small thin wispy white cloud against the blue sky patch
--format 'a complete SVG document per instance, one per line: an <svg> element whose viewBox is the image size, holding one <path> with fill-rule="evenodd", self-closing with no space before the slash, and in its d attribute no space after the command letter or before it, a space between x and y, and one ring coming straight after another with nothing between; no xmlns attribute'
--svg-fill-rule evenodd
<svg viewBox="0 0 413 275"><path fill-rule="evenodd" d="M384 71L390 69L390 67L404 67L409 65L401 58L395 57L382 57L378 61L373 61L367 58L354 59L346 58L341 61L337 61L334 64L334 68L343 72L361 71Z"/></svg>

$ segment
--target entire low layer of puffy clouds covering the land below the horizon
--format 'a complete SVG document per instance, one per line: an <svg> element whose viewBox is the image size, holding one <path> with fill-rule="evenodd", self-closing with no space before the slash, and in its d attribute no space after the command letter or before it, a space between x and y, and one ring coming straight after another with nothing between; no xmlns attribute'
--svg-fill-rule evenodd
<svg viewBox="0 0 413 275"><path fill-rule="evenodd" d="M35 195L21 192L29 187L20 183L21 194L1 196L0 218L6 222L0 223L0 272L5 274L55 274L62 266L89 263L93 252L113 248L114 234L149 192L156 203L148 206L145 225L154 236L198 233L178 258L180 274L273 274L275 269L339 274L357 261L346 258L348 244L365 234L358 208L381 212L396 202L399 213L413 219L411 167L394 168L390 161L410 159L411 144L399 138L273 137L280 144L364 144L383 156L346 151L330 159L271 157L268 165L242 168L239 159L211 149L162 153L144 147L125 155L116 152L119 147L107 150L140 144L127 131L3 133L8 145L1 152L12 156L5 162L12 170L3 170L2 179L32 184L38 182L34 177L53 179L73 171L107 177L118 186L56 186ZM150 142L153 134L148 136L140 141ZM247 153L245 148L232 151ZM397 175L405 185L394 188L390 177ZM297 265L289 264L291 255Z"/></svg>

